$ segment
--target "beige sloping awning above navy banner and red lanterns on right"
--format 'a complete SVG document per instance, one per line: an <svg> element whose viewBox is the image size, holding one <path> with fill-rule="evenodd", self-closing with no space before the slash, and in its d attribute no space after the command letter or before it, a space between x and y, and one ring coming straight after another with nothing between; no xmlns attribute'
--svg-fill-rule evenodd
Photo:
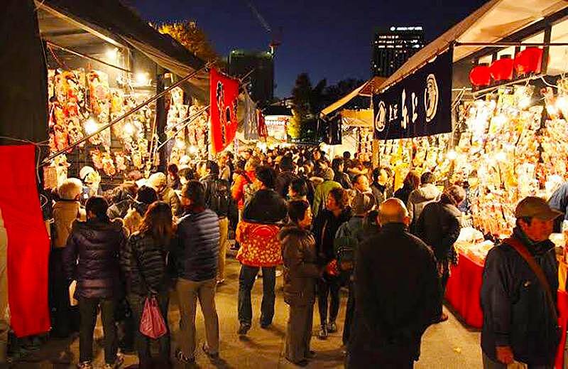
<svg viewBox="0 0 568 369"><path fill-rule="evenodd" d="M461 43L492 43L500 41L532 23L540 21L568 7L564 0L491 0L477 9L463 21L457 23L446 33L422 48L403 64L388 80L381 90L403 79L442 53L454 41ZM459 46L454 50L454 62L481 50L482 46Z"/></svg>

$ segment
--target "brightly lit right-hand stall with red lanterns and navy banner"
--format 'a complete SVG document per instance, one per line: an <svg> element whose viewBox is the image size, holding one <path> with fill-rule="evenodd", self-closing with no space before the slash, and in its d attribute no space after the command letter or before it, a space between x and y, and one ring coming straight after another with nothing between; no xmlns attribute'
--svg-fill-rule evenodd
<svg viewBox="0 0 568 369"><path fill-rule="evenodd" d="M510 235L515 206L526 196L549 198L568 179L567 16L562 1L490 1L413 55L373 97L379 158L393 169L395 188L413 170L466 189L462 223L471 228L456 244L446 299L476 328L486 253ZM565 247L562 235L552 238ZM563 353L562 343L557 368Z"/></svg>

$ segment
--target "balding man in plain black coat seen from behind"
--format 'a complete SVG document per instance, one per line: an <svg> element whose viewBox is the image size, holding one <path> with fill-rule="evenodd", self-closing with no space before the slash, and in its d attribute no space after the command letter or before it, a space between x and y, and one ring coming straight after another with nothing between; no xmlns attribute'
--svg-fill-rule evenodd
<svg viewBox="0 0 568 369"><path fill-rule="evenodd" d="M427 245L408 232L402 201L383 202L378 221L380 233L357 250L346 367L413 368L422 334L439 316L436 262Z"/></svg>

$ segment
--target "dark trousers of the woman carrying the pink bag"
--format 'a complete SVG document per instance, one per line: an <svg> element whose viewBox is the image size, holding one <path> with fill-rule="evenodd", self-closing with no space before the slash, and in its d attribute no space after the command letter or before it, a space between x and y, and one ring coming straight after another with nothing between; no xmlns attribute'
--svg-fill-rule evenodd
<svg viewBox="0 0 568 369"><path fill-rule="evenodd" d="M130 304L130 309L132 310L132 315L135 325L134 342L136 345L136 351L138 352L138 361L140 363L140 368L148 368L151 364L151 352L150 345L153 341L152 338L144 336L140 333L140 321L142 319L142 314L144 311L144 305L146 304L146 296L141 296L138 294L129 294L127 299ZM160 360L167 361L170 358L170 328L168 326L168 304L170 302L170 297L168 292L163 292L156 296L156 301L158 301L158 306L160 307L160 313L165 321L165 328L168 331L164 336L158 338L158 343L160 346Z"/></svg>

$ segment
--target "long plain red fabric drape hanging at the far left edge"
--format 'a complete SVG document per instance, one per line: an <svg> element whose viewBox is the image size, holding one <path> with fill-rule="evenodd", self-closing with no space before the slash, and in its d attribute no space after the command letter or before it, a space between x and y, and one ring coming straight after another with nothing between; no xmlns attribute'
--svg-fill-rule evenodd
<svg viewBox="0 0 568 369"><path fill-rule="evenodd" d="M8 235L8 297L16 336L49 331L49 237L35 181L35 146L0 146L0 208Z"/></svg>

